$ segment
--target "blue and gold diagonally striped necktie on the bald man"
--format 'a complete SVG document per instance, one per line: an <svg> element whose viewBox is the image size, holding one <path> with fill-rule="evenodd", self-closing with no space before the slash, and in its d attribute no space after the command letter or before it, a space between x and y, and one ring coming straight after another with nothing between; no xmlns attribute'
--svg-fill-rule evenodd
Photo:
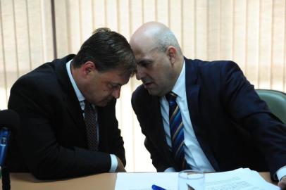
<svg viewBox="0 0 286 190"><path fill-rule="evenodd" d="M172 155L180 170L187 169L185 160L184 125L180 108L176 103L177 94L172 91L166 95L169 103L170 137L172 140Z"/></svg>

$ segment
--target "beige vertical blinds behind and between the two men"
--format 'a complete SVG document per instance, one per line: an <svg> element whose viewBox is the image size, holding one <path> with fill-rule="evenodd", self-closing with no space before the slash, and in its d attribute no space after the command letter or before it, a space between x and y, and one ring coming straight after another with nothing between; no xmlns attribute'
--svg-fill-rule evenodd
<svg viewBox="0 0 286 190"><path fill-rule="evenodd" d="M20 75L54 59L51 1L0 0L0 109ZM285 0L56 0L56 54L76 53L97 27L127 39L157 20L178 37L188 58L237 62L256 88L286 91ZM123 87L116 114L127 170L153 171L132 112L135 78Z"/></svg>

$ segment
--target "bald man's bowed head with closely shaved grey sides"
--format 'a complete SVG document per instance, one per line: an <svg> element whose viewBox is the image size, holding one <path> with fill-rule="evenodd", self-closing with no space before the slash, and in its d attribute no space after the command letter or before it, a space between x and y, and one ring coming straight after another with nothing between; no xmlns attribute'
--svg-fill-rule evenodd
<svg viewBox="0 0 286 190"><path fill-rule="evenodd" d="M137 62L137 80L149 94L164 96L177 81L183 65L180 46L173 32L162 23L145 23L130 39Z"/></svg>

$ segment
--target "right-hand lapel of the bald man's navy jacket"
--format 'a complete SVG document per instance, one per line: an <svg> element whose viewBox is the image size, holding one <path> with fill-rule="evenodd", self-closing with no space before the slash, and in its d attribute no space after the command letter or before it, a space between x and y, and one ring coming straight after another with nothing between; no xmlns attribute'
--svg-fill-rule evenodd
<svg viewBox="0 0 286 190"><path fill-rule="evenodd" d="M205 126L202 124L202 121L207 120L208 118L203 118L204 113L201 113L199 110L199 93L201 87L197 82L198 63L185 58L185 64L187 106L189 108L189 118L192 122L194 134L199 141L201 149L204 151L206 157L213 166L213 169L219 171L218 163L216 162L216 159L211 151L211 147L209 146L206 128L204 128Z"/></svg>

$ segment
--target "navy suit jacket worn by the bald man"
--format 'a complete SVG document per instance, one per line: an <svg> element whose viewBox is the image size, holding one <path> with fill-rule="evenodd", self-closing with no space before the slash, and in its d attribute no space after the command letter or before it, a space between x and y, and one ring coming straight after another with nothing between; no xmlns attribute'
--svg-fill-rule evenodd
<svg viewBox="0 0 286 190"><path fill-rule="evenodd" d="M273 174L286 165L286 127L259 99L237 64L185 58L185 66L189 117L216 171L269 168ZM132 107L153 165L160 172L177 169L166 143L159 98L141 85L132 94Z"/></svg>

